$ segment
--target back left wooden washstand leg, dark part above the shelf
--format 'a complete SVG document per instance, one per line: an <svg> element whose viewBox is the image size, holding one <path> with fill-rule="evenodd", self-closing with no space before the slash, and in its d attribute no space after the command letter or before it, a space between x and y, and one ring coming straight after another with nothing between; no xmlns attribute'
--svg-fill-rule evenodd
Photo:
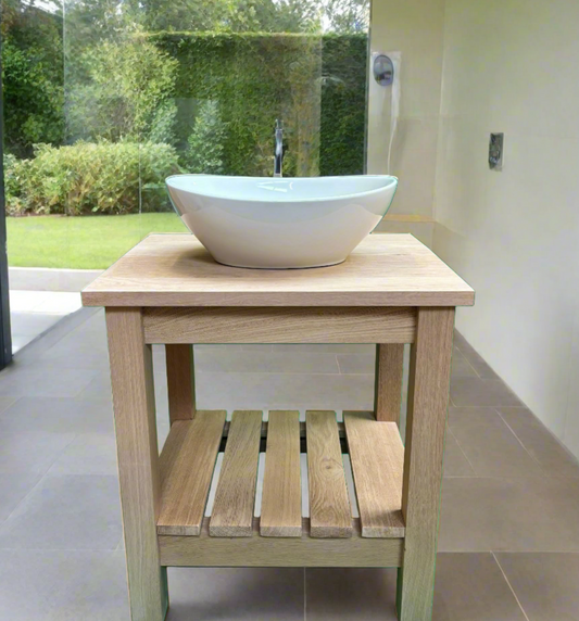
<svg viewBox="0 0 579 621"><path fill-rule="evenodd" d="M193 346L165 345L167 358L168 418L190 420L196 413Z"/></svg>

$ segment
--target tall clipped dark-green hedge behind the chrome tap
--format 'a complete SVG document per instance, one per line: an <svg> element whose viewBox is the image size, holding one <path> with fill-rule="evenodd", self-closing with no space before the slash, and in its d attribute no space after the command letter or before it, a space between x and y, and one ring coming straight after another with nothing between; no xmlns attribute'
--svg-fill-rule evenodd
<svg viewBox="0 0 579 621"><path fill-rule="evenodd" d="M226 127L227 175L270 174L278 117L286 175L363 173L366 35L160 33L149 40L179 63L179 151L211 101Z"/></svg>

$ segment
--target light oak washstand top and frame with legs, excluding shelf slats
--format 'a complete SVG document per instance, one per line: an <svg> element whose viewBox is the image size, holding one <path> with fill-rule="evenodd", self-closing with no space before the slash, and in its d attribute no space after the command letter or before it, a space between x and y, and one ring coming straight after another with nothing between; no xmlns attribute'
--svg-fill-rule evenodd
<svg viewBox="0 0 579 621"><path fill-rule="evenodd" d="M471 305L474 292L411 236L370 236L333 268L256 271L214 264L192 236L151 236L83 292L86 305L106 309L131 619L165 618L167 566L277 566L399 567L399 619L428 621L455 306ZM389 426L399 422L410 343L402 529L383 536L366 528L365 534L355 519L352 536L316 538L304 520L302 536L260 536L254 523L252 536L218 537L210 536L204 519L197 536L166 534L174 531L160 527L165 470L153 343L166 346L172 432L205 416L196 413L193 343L375 344L372 416ZM372 491L373 481L366 483Z"/></svg>

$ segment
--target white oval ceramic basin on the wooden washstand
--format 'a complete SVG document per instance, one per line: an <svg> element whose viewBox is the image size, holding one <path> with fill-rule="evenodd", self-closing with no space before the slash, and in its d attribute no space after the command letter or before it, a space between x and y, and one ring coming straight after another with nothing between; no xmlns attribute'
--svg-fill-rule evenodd
<svg viewBox="0 0 579 621"><path fill-rule="evenodd" d="M282 269L344 261L388 211L398 179L175 175L166 183L182 221L216 261Z"/></svg>

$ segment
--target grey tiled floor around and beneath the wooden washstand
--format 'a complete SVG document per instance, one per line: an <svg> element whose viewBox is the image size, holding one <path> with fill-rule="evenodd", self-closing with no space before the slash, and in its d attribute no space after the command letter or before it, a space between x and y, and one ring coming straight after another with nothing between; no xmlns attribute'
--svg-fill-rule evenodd
<svg viewBox="0 0 579 621"><path fill-rule="evenodd" d="M460 337L435 621L579 620L579 466ZM160 440L164 352L154 351ZM367 346L197 347L203 408L372 407ZM106 341L81 310L0 373L0 619L128 620ZM169 621L391 620L395 571L171 569Z"/></svg>

